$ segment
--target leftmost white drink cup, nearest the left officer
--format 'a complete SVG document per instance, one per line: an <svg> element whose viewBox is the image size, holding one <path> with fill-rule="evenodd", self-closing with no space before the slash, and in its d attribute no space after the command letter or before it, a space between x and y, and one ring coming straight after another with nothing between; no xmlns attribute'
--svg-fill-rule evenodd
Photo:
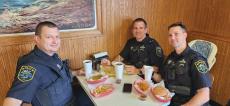
<svg viewBox="0 0 230 106"><path fill-rule="evenodd" d="M84 60L83 65L85 70L85 77L89 78L93 72L92 60Z"/></svg>

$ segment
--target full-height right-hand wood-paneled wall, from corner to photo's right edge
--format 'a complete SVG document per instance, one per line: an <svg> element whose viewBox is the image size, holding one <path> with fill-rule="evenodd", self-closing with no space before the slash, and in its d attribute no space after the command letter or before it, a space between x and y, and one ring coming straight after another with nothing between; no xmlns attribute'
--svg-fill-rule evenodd
<svg viewBox="0 0 230 106"><path fill-rule="evenodd" d="M211 99L226 105L230 99L230 1L198 0L192 38L203 38L215 42L218 46L217 62L212 69L215 82L211 90Z"/></svg>

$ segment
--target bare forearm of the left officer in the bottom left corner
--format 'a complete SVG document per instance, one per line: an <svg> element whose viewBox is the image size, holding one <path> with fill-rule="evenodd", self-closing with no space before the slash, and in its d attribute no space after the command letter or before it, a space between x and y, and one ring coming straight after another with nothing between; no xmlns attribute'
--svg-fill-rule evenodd
<svg viewBox="0 0 230 106"><path fill-rule="evenodd" d="M3 102L3 106L21 106L22 100L7 97Z"/></svg>

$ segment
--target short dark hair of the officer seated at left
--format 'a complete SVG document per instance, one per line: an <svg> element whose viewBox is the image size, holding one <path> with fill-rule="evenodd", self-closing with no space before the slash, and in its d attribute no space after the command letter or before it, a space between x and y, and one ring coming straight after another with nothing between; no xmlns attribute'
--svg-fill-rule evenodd
<svg viewBox="0 0 230 106"><path fill-rule="evenodd" d="M50 22L50 21L43 21L43 22L40 22L36 29L35 29L35 35L36 36L40 36L41 34L41 31L42 31L42 27L44 26L47 26L49 28L58 28L58 26L56 24L54 24L53 22Z"/></svg>

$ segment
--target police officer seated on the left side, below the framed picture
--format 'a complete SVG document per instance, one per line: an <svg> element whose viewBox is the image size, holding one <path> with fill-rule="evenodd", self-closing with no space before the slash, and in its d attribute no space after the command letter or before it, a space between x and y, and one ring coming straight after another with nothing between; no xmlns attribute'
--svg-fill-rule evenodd
<svg viewBox="0 0 230 106"><path fill-rule="evenodd" d="M34 49L18 60L15 78L3 105L71 105L71 74L56 54L60 47L58 27L48 21L39 23L34 40Z"/></svg>

